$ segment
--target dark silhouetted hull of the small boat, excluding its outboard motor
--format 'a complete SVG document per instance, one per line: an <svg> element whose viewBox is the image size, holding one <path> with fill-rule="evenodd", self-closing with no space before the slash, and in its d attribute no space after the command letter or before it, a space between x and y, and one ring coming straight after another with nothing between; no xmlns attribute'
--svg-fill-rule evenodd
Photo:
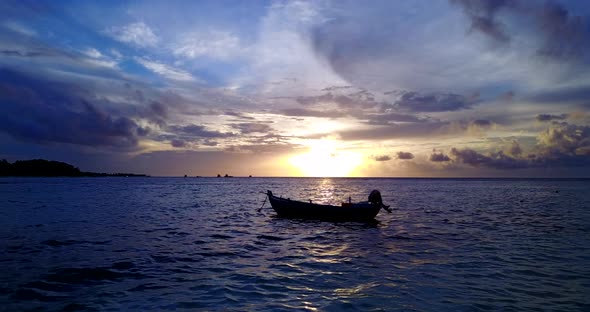
<svg viewBox="0 0 590 312"><path fill-rule="evenodd" d="M333 206L281 198L274 196L271 191L267 191L266 195L272 208L281 218L368 222L374 221L381 210L380 204L370 202Z"/></svg>

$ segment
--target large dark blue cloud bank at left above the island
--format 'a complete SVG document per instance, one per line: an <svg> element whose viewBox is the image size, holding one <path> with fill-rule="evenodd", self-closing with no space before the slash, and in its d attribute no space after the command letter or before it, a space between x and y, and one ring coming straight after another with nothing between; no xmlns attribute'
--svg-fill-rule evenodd
<svg viewBox="0 0 590 312"><path fill-rule="evenodd" d="M81 86L0 70L0 131L38 143L136 147L148 130L97 101Z"/></svg>

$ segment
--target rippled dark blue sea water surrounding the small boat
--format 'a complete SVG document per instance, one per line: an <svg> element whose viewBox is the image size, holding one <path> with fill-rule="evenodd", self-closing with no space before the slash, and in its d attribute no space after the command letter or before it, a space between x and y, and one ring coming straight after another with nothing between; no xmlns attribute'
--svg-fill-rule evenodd
<svg viewBox="0 0 590 312"><path fill-rule="evenodd" d="M0 310L590 310L590 181L0 179ZM377 224L274 217L264 195Z"/></svg>

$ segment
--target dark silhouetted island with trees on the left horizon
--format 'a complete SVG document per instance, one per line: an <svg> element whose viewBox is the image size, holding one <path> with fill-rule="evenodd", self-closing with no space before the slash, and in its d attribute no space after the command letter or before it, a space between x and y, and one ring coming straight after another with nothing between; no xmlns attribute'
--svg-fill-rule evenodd
<svg viewBox="0 0 590 312"><path fill-rule="evenodd" d="M0 161L0 177L146 177L133 173L97 173L80 171L68 163L45 159Z"/></svg>

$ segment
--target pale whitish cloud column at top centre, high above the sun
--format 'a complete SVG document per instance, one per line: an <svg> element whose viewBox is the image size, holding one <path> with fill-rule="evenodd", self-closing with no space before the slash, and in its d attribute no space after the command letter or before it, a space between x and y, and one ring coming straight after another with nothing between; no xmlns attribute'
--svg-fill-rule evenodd
<svg viewBox="0 0 590 312"><path fill-rule="evenodd" d="M262 84L261 91L284 96L345 84L310 46L310 28L324 19L321 11L325 4L276 1L267 6L258 21L256 41L247 48L250 64L246 75L239 80Z"/></svg>

